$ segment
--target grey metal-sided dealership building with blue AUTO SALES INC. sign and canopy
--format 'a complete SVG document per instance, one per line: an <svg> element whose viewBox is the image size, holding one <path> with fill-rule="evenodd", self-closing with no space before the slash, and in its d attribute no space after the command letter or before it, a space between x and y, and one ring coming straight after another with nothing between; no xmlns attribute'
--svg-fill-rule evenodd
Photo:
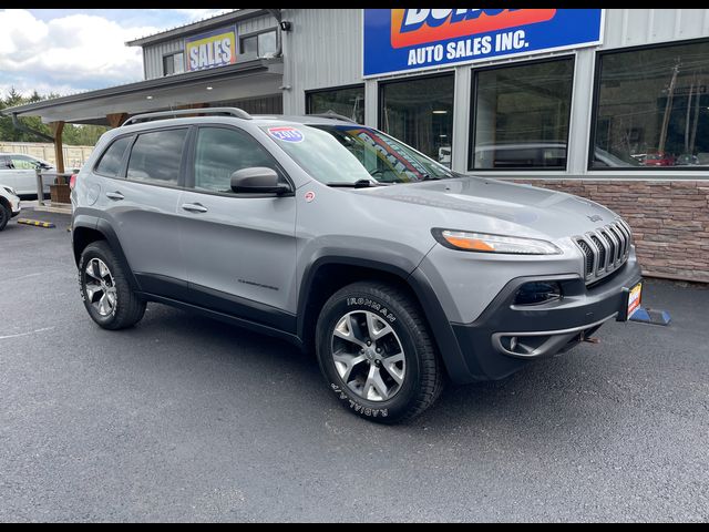
<svg viewBox="0 0 709 532"><path fill-rule="evenodd" d="M597 201L709 282L709 9L242 9L126 43L144 80L6 110L337 113L453 170Z"/></svg>

